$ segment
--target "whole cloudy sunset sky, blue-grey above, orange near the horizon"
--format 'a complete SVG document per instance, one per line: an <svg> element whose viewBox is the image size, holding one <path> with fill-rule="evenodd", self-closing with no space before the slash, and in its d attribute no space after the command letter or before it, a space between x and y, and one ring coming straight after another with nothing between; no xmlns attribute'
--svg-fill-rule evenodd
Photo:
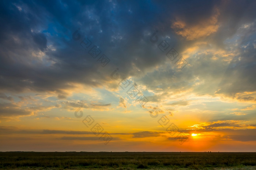
<svg viewBox="0 0 256 170"><path fill-rule="evenodd" d="M0 151L256 151L256 1L0 1Z"/></svg>

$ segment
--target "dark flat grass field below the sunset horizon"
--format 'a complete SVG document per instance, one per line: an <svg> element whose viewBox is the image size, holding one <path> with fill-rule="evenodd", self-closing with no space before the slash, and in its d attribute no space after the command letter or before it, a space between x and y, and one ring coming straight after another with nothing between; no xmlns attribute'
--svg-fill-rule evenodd
<svg viewBox="0 0 256 170"><path fill-rule="evenodd" d="M0 152L1 169L256 169L256 152Z"/></svg>

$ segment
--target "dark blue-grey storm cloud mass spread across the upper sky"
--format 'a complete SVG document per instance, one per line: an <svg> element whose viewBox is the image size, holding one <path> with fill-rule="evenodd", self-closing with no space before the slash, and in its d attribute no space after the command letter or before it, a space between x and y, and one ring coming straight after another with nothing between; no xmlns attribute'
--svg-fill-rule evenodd
<svg viewBox="0 0 256 170"><path fill-rule="evenodd" d="M1 1L0 21L4 24L0 28L0 89L4 92L54 92L64 99L69 95L65 89L75 87L72 83L111 86L108 84L110 74L118 67L121 77L146 74L140 82L150 89L170 87L172 82L166 77L174 74L177 78L176 84L172 84L174 90L190 88L199 77L207 84L195 89L196 92L212 94L221 81L216 77L223 75L224 67L221 66L225 64L222 60L212 61L203 54L198 58L195 55L190 56L190 66L182 72L147 74L155 66L170 62L149 38L159 30L159 42L169 36L171 46L181 53L197 39L180 38L175 28L171 28L172 23L178 17L188 27L193 27L211 18L214 9L218 8L221 26L206 40L217 49L225 49L228 48L223 43L226 39L243 24L254 21L254 7L254 1ZM72 39L78 28L83 37L87 36L110 59L106 67L102 68L88 54L89 50L79 45L82 39ZM242 59L234 61L234 67L230 65L219 93L231 95L256 90L252 74L256 68L255 48L250 38L255 36L254 32L255 25L252 25L238 42L240 46L249 42L248 50L240 49ZM237 76L234 71L239 72L239 80L234 79ZM234 84L231 87L230 81Z"/></svg>

